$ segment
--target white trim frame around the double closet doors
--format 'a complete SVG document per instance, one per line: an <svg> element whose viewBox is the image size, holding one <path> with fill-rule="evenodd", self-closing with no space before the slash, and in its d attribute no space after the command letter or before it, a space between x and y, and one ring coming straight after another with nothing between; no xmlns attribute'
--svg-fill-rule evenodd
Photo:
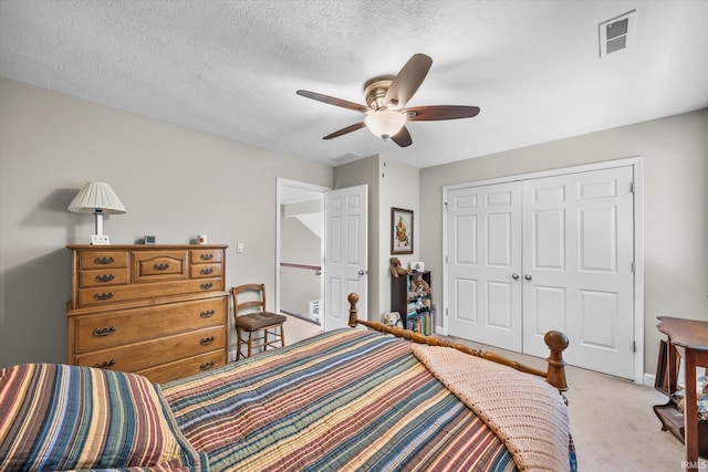
<svg viewBox="0 0 708 472"><path fill-rule="evenodd" d="M542 177L561 176L564 174L577 174L589 170L611 169L614 167L632 166L634 174L634 382L644 384L644 192L643 192L643 159L641 156L624 159L605 160L601 162L580 166L562 167L541 170L537 172L520 174L494 179L475 180L466 183L456 183L442 187L442 284L448 286L447 262L447 211L448 191L466 187L488 186L492 183L507 183L517 180L535 179ZM447 290L442 291L442 334L448 333L448 303Z"/></svg>

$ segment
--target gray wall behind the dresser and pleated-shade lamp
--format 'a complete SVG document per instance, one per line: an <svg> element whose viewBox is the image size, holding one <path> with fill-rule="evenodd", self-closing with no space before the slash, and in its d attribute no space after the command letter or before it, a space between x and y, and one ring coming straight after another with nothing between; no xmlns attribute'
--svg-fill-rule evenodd
<svg viewBox="0 0 708 472"><path fill-rule="evenodd" d="M207 233L230 244L228 286L263 282L273 295L275 179L332 186L325 165L6 78L0 125L0 366L66 360L65 245L94 223L66 206L84 182L111 183L127 209L104 221L113 243Z"/></svg>

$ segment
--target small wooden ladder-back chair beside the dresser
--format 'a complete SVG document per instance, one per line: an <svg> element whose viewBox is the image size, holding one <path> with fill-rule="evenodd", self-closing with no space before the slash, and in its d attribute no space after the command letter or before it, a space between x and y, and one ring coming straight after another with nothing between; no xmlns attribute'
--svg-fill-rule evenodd
<svg viewBox="0 0 708 472"><path fill-rule="evenodd" d="M236 360L251 357L254 348L267 350L268 347L285 345L283 323L284 315L266 311L266 285L244 284L231 287L233 298L233 321L236 323ZM242 336L248 334L248 337ZM256 335L254 335L256 334ZM270 336L270 337L269 337ZM247 355L241 353L241 345L248 347ZM280 344L280 346L277 346Z"/></svg>

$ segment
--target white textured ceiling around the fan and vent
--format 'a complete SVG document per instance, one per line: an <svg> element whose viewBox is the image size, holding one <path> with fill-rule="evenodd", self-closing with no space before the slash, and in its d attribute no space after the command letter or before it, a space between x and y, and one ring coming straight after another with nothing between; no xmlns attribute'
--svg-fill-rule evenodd
<svg viewBox="0 0 708 472"><path fill-rule="evenodd" d="M636 9L601 59L598 23ZM350 153L428 167L708 107L708 0L0 0L0 75L335 165ZM362 115L368 78L417 52L409 106L476 118L408 124L398 148Z"/></svg>

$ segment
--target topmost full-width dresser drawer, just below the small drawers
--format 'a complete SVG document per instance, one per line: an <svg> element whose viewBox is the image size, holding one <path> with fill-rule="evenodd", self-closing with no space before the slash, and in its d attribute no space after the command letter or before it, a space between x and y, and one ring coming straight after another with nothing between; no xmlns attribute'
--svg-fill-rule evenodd
<svg viewBox="0 0 708 472"><path fill-rule="evenodd" d="M220 277L80 289L79 306L108 306L137 300L158 298L188 293L219 292L222 290L223 280Z"/></svg>

